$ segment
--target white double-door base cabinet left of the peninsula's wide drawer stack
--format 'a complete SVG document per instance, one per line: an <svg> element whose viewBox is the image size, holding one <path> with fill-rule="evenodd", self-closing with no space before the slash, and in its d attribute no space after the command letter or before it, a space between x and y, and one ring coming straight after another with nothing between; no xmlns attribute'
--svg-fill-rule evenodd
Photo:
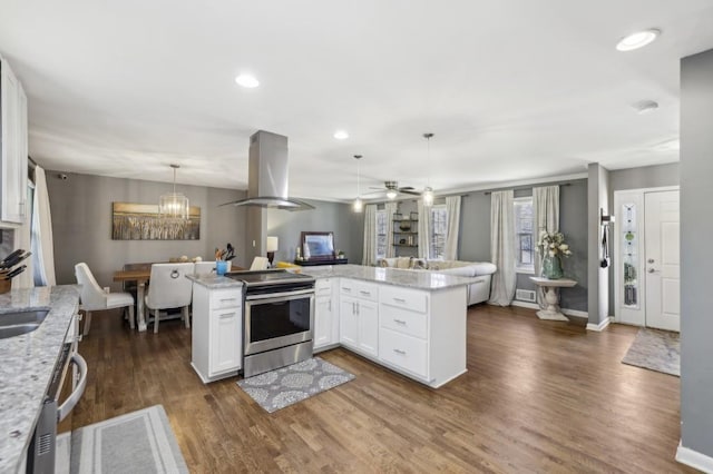
<svg viewBox="0 0 713 474"><path fill-rule="evenodd" d="M379 287L341 278L340 342L363 355L379 355Z"/></svg>

